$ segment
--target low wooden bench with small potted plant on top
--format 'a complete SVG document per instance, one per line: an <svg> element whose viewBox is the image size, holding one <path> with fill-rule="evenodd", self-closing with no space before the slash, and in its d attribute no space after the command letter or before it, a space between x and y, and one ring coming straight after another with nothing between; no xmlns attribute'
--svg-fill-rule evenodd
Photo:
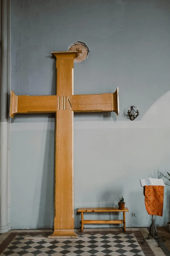
<svg viewBox="0 0 170 256"><path fill-rule="evenodd" d="M114 208L79 208L78 212L81 213L81 232L84 230L84 224L123 224L123 230L126 232L125 225L125 212L129 212L128 208L119 209ZM123 212L123 220L84 220L83 213L101 213L101 212Z"/></svg>

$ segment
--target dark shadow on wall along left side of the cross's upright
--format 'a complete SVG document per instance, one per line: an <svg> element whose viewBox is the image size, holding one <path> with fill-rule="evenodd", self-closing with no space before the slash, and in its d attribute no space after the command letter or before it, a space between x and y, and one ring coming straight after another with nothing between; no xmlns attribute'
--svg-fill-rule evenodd
<svg viewBox="0 0 170 256"><path fill-rule="evenodd" d="M56 60L53 59L51 95L55 94ZM55 114L51 114L55 118ZM50 118L50 117L49 117ZM37 228L54 227L55 132L47 130Z"/></svg>

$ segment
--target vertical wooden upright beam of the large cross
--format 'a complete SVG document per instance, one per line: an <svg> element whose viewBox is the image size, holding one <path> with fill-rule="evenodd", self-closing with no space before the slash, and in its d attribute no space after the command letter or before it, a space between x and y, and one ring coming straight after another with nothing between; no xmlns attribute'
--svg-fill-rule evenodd
<svg viewBox="0 0 170 256"><path fill-rule="evenodd" d="M54 53L57 69L56 94L71 97L73 94L73 66L77 52ZM69 57L69 58L68 58ZM61 98L64 104L64 98ZM52 236L78 237L74 232L74 157L73 157L73 111L57 109L55 154L55 216ZM71 232L71 234L70 234Z"/></svg>

